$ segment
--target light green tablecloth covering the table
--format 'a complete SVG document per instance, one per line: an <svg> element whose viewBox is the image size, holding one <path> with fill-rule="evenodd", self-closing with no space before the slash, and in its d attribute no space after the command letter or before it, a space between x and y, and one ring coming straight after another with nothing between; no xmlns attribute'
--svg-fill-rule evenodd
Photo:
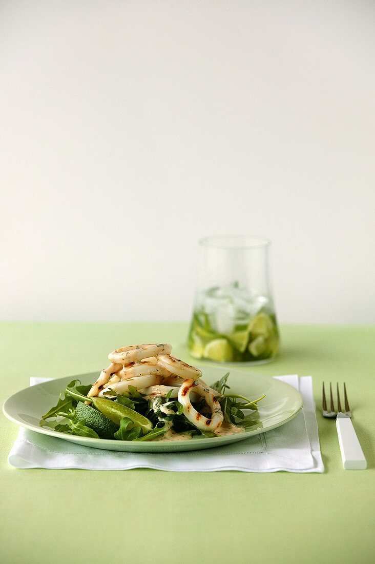
<svg viewBox="0 0 375 564"><path fill-rule="evenodd" d="M2 323L1 403L30 376L102 368L108 352L170 342L189 358L183 323ZM375 329L286 325L273 363L246 368L346 381L367 470L343 470L336 425L317 412L324 474L19 470L18 428L1 415L1 562L373 562ZM19 363L22 353L27 363Z"/></svg>

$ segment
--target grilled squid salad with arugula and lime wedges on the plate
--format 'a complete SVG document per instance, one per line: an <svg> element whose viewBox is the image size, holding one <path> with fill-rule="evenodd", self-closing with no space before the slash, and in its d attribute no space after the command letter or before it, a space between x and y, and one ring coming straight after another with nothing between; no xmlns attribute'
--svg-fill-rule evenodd
<svg viewBox="0 0 375 564"><path fill-rule="evenodd" d="M73 380L61 391L41 425L81 437L143 441L220 437L257 422L265 395L230 393L229 372L208 386L198 368L171 356L171 348L116 349L94 384Z"/></svg>

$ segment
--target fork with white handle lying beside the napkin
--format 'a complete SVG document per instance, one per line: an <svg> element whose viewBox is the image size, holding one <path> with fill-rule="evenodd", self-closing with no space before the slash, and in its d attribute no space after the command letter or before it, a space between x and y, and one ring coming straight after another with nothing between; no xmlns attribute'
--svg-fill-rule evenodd
<svg viewBox="0 0 375 564"><path fill-rule="evenodd" d="M334 408L332 383L329 382L329 410L327 409L327 399L325 398L325 388L323 382L322 413L323 417L333 419L336 417L336 429L338 443L341 451L342 465L345 470L364 470L367 462L358 437L351 422L351 411L348 403L346 385L344 383L344 407L341 409L340 394L337 384L337 411Z"/></svg>

